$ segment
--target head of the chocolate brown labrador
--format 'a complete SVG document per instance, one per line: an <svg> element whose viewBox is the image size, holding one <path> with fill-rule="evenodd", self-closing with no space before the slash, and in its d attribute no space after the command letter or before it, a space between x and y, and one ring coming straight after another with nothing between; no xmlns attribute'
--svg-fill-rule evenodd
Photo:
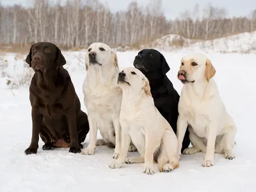
<svg viewBox="0 0 256 192"><path fill-rule="evenodd" d="M50 42L39 42L31 46L26 63L35 72L44 72L65 65L66 60L56 45Z"/></svg>

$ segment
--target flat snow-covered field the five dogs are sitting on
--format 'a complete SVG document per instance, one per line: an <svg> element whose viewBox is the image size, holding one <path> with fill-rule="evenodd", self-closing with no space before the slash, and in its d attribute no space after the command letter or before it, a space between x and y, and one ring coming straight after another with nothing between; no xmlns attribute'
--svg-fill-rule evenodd
<svg viewBox="0 0 256 192"><path fill-rule="evenodd" d="M182 83L176 77L180 58L184 52L162 52L170 65L168 77L180 93ZM70 72L82 109L82 84L84 70L83 52L63 52L67 59L65 68ZM120 68L132 66L137 52L117 52ZM94 156L70 154L68 148L42 150L26 156L24 150L31 140L31 106L28 86L10 90L6 78L0 81L0 191L1 192L64 192L64 191L256 191L256 55L209 53L207 56L216 68L214 79L228 113L237 125L234 154L230 161L216 154L214 166L201 166L204 154L182 156L180 167L171 173L145 175L143 164L125 164L111 170L113 149L97 147ZM4 56L8 62L10 77L20 77L23 61L15 61L13 54ZM13 63L19 65L13 71ZM5 69L6 70L6 69ZM100 138L100 135L98 134ZM86 147L89 134L83 146ZM129 153L138 156L138 153Z"/></svg>

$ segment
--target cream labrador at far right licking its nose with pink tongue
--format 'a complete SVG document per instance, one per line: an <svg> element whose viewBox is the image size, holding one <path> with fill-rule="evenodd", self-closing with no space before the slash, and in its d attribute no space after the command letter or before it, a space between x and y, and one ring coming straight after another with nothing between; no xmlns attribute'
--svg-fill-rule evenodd
<svg viewBox="0 0 256 192"><path fill-rule="evenodd" d="M232 148L236 135L236 125L212 79L215 68L204 54L193 53L181 60L178 78L184 84L179 100L177 138L179 151L186 127L189 125L189 138L193 147L186 148L183 154L204 152L202 166L214 164L214 152L233 159Z"/></svg>

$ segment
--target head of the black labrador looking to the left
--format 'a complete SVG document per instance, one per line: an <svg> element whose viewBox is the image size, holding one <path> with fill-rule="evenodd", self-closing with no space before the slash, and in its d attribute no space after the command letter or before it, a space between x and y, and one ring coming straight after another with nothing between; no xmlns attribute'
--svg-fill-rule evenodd
<svg viewBox="0 0 256 192"><path fill-rule="evenodd" d="M154 72L158 75L165 75L170 67L163 54L156 49L142 49L133 61L134 67L143 72Z"/></svg>

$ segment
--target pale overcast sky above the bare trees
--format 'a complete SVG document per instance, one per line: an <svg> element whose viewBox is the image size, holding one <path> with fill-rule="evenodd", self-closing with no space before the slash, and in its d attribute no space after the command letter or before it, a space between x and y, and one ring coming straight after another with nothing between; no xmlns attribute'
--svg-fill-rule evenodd
<svg viewBox="0 0 256 192"><path fill-rule="evenodd" d="M50 0L54 1L54 0ZM61 0L65 1L65 0ZM105 0L100 0L104 2ZM143 6L150 0L137 0L137 2ZM11 4L28 4L31 0L0 0L3 5ZM125 10L131 0L107 0L108 6L112 12L118 10ZM196 3L199 4L200 10L204 8L207 3L211 3L213 6L225 7L228 11L228 16L248 16L252 10L256 10L255 0L162 0L164 14L168 19L175 19L179 17L181 12L186 10L193 10Z"/></svg>

